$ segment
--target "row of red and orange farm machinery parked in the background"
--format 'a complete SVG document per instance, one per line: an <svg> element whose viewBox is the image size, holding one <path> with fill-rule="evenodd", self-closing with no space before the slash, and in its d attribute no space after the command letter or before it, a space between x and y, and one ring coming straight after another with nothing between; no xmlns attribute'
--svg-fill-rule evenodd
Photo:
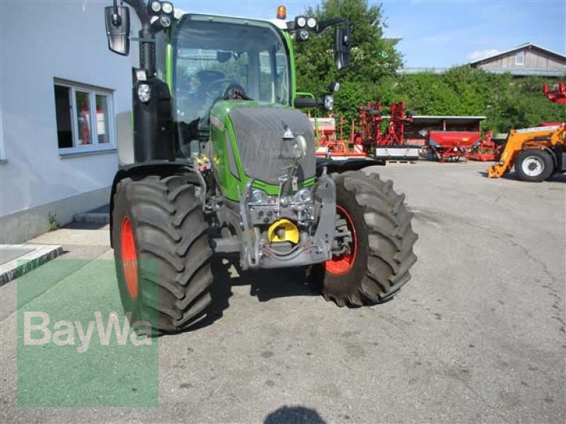
<svg viewBox="0 0 566 424"><path fill-rule="evenodd" d="M565 83L560 82L552 88L545 85L544 93L550 101L566 104ZM519 169L523 166L519 165L517 174L526 180L548 178L554 172L562 172L566 166L562 122L543 122L535 128L513 130L504 143L498 143L490 130L482 137L480 122L485 117L415 117L406 112L405 102L389 105L388 115L383 113L383 109L381 101L359 106L358 119L357 122L352 121L349 140L343 136L343 118L340 119L340 136L337 136L335 119L320 119L316 154L333 160L417 160L422 147L421 153L440 163L468 159L499 161L490 167L490 177L500 177L512 169L516 160L521 160L521 164L525 160L524 169ZM442 119L444 124L427 126L418 131L419 122L427 119ZM449 126L446 124L449 119L472 119L473 124ZM415 146L411 136L407 137L408 126L412 126L413 132L419 132L424 140L422 146ZM533 148L540 152L535 155L520 154Z"/></svg>

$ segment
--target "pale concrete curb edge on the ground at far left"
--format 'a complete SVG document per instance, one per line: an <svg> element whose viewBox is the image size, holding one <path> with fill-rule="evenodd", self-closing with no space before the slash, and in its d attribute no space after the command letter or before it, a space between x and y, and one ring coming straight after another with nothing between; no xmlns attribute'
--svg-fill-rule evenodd
<svg viewBox="0 0 566 424"><path fill-rule="evenodd" d="M63 253L61 246L54 245L0 245L0 249L18 249L22 247L33 249L33 252L0 265L0 286L38 268L45 262L55 259ZM18 263L20 264L19 266Z"/></svg>

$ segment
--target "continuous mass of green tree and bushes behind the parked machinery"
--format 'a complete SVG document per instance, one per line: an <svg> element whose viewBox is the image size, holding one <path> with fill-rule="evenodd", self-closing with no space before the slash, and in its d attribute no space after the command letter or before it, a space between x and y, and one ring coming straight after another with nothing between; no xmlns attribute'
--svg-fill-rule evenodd
<svg viewBox="0 0 566 424"><path fill-rule="evenodd" d="M369 6L366 0L323 0L316 8L306 8L305 15L318 20L344 17L352 25L350 68L340 73L333 58L332 30L296 42L298 90L322 95L330 81L340 81L335 112L347 119L357 116L359 105L376 100L383 105L404 101L418 114L485 116L483 128L494 132L563 122L566 117L564 105L543 95L543 84L556 81L496 75L470 66L441 74L398 75L401 54L395 42L383 38L381 6Z"/></svg>

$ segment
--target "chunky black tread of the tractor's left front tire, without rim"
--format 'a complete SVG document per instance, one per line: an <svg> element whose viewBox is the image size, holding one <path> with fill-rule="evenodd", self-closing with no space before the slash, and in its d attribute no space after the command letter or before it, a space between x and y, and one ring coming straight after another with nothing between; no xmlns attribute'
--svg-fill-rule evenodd
<svg viewBox="0 0 566 424"><path fill-rule="evenodd" d="M191 181L197 179L180 173L126 178L115 195L115 204L126 202L134 222L138 260L158 264L158 271L139 267L139 314L157 312L156 334L185 329L202 317L211 302L212 249ZM115 246L119 244L115 240ZM115 257L120 259L116 249Z"/></svg>

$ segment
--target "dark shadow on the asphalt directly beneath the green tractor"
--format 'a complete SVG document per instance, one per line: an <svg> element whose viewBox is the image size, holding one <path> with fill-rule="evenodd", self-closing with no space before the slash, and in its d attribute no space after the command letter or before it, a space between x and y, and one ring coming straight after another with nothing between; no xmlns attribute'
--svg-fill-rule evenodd
<svg viewBox="0 0 566 424"><path fill-rule="evenodd" d="M213 257L211 268L214 275L210 290L212 302L204 317L187 328L187 331L202 329L220 319L230 306L232 287L249 285L250 296L258 298L260 302L277 298L319 295L308 284L304 268L241 271L237 259L223 257Z"/></svg>

